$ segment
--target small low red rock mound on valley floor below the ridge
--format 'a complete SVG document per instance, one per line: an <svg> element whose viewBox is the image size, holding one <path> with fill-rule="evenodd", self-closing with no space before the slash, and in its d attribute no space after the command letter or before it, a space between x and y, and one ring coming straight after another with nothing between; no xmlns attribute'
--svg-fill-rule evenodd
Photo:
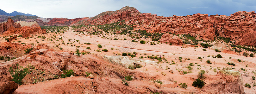
<svg viewBox="0 0 256 94"><path fill-rule="evenodd" d="M162 35L162 38L158 40L159 42L167 42L175 45L183 44L182 39L179 39L178 36L172 36L170 33L165 33Z"/></svg>

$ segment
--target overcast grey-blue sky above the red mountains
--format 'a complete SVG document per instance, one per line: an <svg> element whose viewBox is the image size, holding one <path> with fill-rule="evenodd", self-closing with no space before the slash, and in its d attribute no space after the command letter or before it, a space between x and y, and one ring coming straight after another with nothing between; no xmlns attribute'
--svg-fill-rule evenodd
<svg viewBox="0 0 256 94"><path fill-rule="evenodd" d="M255 0L1 0L0 9L29 13L42 18L94 17L104 11L134 7L141 13L158 16L185 16L195 13L230 15L255 11Z"/></svg>

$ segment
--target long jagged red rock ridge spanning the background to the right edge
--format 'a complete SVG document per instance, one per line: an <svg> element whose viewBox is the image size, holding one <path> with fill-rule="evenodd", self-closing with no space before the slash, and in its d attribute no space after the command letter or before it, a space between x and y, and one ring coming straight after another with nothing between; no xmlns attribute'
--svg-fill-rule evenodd
<svg viewBox="0 0 256 94"><path fill-rule="evenodd" d="M196 39L213 40L216 35L231 38L238 45L256 46L256 14L236 12L230 16L193 14L163 17L151 13L140 13L137 9L124 7L108 11L87 19L84 24L103 25L124 20L122 24L133 25L134 30L149 33L191 34ZM135 25L134 25L135 24Z"/></svg>

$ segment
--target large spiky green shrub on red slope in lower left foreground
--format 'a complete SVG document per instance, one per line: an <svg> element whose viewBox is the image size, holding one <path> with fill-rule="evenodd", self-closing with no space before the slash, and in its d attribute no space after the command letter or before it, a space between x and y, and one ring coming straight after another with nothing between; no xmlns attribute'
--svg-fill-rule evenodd
<svg viewBox="0 0 256 94"><path fill-rule="evenodd" d="M10 67L10 70L8 70L8 72L13 77L12 81L16 82L19 85L22 85L22 79L31 71L32 67L30 64L28 64L25 66L25 68L23 68L23 66L20 66L19 63L16 66L16 69Z"/></svg>

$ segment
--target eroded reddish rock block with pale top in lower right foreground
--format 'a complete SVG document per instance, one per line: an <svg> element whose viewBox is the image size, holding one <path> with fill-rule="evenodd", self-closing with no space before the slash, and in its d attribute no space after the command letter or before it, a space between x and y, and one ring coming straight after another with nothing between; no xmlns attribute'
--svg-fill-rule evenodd
<svg viewBox="0 0 256 94"><path fill-rule="evenodd" d="M222 70L206 79L211 81L201 90L208 94L244 94L243 77L238 71Z"/></svg>

